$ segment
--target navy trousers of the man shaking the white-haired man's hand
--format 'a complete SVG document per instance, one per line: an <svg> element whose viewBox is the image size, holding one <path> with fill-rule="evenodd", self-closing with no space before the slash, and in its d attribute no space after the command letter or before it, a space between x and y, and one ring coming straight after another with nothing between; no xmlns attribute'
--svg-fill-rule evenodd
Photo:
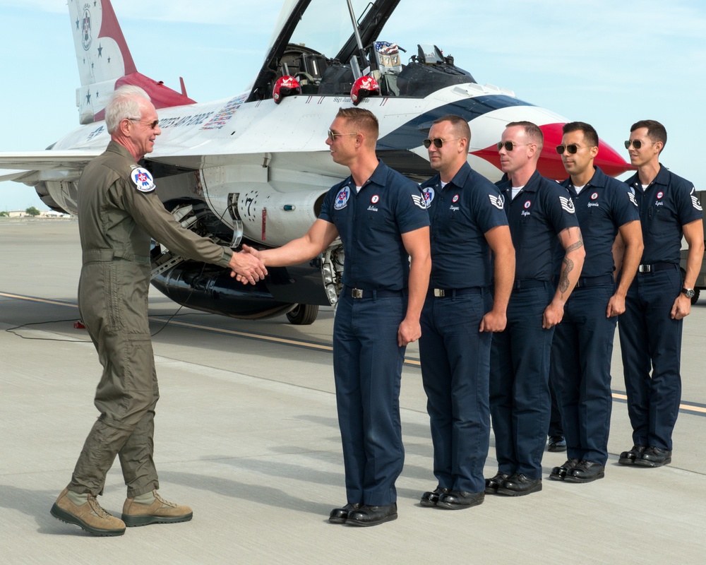
<svg viewBox="0 0 706 565"><path fill-rule="evenodd" d="M405 463L400 381L405 347L397 328L405 297L342 296L333 325L333 374L343 444L347 501L381 506L397 501Z"/></svg>

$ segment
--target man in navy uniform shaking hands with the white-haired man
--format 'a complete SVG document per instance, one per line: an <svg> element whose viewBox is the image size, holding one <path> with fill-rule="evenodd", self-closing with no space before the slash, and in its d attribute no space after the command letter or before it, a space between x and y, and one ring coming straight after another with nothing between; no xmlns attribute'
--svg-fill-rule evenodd
<svg viewBox="0 0 706 565"><path fill-rule="evenodd" d="M287 266L316 257L341 238L345 266L333 372L347 504L333 509L329 521L361 526L397 518L395 480L405 459L402 363L407 344L421 335L431 270L424 196L418 184L378 160L377 138L372 112L340 109L326 143L334 162L351 175L328 191L304 237L277 249L251 250L269 266Z"/></svg>

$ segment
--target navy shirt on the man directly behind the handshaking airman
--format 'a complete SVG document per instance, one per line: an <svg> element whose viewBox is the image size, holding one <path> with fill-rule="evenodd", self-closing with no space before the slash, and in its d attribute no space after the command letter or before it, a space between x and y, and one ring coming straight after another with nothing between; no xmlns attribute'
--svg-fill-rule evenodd
<svg viewBox="0 0 706 565"><path fill-rule="evenodd" d="M431 222L431 287L486 287L492 279L485 232L508 225L503 196L468 163L441 188L437 174L421 185Z"/></svg>

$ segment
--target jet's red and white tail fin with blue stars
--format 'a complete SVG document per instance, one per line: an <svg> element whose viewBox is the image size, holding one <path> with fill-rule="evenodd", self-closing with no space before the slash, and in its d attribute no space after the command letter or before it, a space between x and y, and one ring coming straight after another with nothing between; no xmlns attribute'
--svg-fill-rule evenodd
<svg viewBox="0 0 706 565"><path fill-rule="evenodd" d="M157 109L195 104L182 93L138 73L110 0L69 0L73 43L81 85L76 106L81 124L104 119L105 105L119 86L143 88Z"/></svg>

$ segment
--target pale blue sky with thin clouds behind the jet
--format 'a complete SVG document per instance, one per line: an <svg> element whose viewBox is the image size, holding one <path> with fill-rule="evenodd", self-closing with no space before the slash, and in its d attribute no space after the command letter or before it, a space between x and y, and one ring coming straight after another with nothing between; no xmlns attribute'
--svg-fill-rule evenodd
<svg viewBox="0 0 706 565"><path fill-rule="evenodd" d="M206 102L249 85L281 1L113 6L138 71L176 90L183 76L189 96ZM62 0L0 0L0 22L0 151L41 150L78 126L68 8ZM662 163L706 189L693 132L706 118L702 0L402 0L381 39L407 55L417 43L435 43L479 83L589 122L626 158L630 125L662 121ZM0 183L0 210L28 206L46 208L32 187Z"/></svg>

